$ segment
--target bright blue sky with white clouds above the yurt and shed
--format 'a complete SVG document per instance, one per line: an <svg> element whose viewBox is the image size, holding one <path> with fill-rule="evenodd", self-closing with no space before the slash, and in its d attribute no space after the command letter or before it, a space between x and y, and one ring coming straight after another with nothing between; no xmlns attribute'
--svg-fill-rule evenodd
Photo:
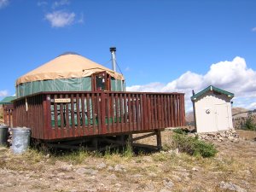
<svg viewBox="0 0 256 192"><path fill-rule="evenodd" d="M256 1L0 0L0 99L15 80L66 51L111 67L127 90L181 91L212 84L234 106L256 108Z"/></svg>

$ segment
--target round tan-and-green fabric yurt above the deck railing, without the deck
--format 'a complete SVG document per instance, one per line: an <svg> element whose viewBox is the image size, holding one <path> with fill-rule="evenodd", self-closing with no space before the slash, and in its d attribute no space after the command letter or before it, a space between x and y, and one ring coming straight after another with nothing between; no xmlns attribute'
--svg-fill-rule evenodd
<svg viewBox="0 0 256 192"><path fill-rule="evenodd" d="M29 96L42 91L124 91L122 74L68 52L16 80L16 96Z"/></svg>

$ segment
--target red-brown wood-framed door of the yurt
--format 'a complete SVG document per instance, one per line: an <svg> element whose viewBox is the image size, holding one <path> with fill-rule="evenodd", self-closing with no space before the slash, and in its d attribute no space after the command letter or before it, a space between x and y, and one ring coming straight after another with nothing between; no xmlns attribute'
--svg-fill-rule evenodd
<svg viewBox="0 0 256 192"><path fill-rule="evenodd" d="M92 75L92 90L110 90L110 76L108 73L100 72Z"/></svg>

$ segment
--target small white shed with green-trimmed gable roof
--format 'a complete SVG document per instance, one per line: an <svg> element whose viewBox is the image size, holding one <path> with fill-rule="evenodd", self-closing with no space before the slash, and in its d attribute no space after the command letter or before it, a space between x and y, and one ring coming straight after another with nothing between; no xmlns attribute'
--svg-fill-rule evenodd
<svg viewBox="0 0 256 192"><path fill-rule="evenodd" d="M212 85L191 96L197 132L225 131L233 128L231 99L233 93Z"/></svg>

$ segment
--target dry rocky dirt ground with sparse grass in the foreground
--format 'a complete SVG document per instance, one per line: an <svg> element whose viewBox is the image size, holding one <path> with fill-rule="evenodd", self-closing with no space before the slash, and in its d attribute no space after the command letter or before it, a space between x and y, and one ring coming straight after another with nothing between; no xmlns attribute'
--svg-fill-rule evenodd
<svg viewBox="0 0 256 192"><path fill-rule="evenodd" d="M63 154L0 148L0 191L256 191L254 132L239 143L215 143L218 154L203 159L168 148L172 131L162 132L166 151L152 154ZM154 137L144 143L154 144ZM227 187L228 186L228 187Z"/></svg>

